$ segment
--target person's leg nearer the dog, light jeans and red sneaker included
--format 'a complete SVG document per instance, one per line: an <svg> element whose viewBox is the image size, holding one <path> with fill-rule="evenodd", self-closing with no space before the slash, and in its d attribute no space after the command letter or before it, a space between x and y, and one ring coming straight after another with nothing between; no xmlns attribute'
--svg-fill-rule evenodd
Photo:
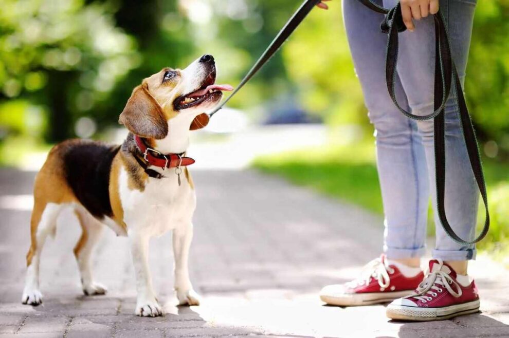
<svg viewBox="0 0 509 338"><path fill-rule="evenodd" d="M383 15L358 1L345 0L343 16L369 118L376 130L385 256L371 261L350 283L324 287L320 298L332 305L368 305L409 295L424 277L419 266L426 234L428 175L416 123L397 110L385 85L387 35L379 26ZM397 94L406 101L399 83Z"/></svg>

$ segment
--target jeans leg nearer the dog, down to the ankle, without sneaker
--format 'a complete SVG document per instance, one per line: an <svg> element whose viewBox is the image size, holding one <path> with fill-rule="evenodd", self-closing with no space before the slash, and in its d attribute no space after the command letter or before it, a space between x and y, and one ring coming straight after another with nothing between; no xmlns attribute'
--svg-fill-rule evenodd
<svg viewBox="0 0 509 338"><path fill-rule="evenodd" d="M381 2L380 2L381 4ZM343 1L344 25L369 118L375 127L378 177L385 214L384 251L389 259L419 266L425 251L428 175L416 123L394 106L385 80L384 16L358 1ZM398 99L406 96L396 79Z"/></svg>

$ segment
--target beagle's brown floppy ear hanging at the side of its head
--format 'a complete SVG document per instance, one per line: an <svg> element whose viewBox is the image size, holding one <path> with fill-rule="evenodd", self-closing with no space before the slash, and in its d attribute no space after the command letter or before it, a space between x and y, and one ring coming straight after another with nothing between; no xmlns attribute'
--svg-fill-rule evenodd
<svg viewBox="0 0 509 338"><path fill-rule="evenodd" d="M165 114L150 95L146 84L134 88L118 119L131 133L144 138L163 139L168 135Z"/></svg>

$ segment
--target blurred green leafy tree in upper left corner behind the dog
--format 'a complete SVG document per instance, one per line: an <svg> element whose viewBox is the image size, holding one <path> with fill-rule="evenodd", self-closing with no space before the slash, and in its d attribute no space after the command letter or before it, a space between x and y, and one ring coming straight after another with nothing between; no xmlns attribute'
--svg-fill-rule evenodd
<svg viewBox="0 0 509 338"><path fill-rule="evenodd" d="M0 12L0 100L48 107L48 141L72 136L72 122L107 97L139 58L115 27L112 7L80 0L4 0Z"/></svg>

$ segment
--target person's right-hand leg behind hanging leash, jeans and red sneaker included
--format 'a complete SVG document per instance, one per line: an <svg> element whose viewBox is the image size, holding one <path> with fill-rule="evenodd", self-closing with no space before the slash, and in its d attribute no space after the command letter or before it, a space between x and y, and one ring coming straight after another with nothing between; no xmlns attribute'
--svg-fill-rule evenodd
<svg viewBox="0 0 509 338"><path fill-rule="evenodd" d="M396 0L384 0L386 7ZM475 3L472 0L442 0L440 13L448 25L452 57L462 80L470 44ZM400 34L398 75L415 115L427 115L433 109L434 24L428 16L417 21L414 32ZM446 186L445 208L453 230L462 238L474 236L479 193L470 168L458 117L456 95L445 107ZM436 204L433 121L417 123L426 149L431 196ZM463 246L450 239L436 216L437 242L429 273L417 293L396 299L387 307L392 319L442 320L479 310L479 296L467 273L467 261L475 257L474 246ZM444 262L445 261L445 262Z"/></svg>

